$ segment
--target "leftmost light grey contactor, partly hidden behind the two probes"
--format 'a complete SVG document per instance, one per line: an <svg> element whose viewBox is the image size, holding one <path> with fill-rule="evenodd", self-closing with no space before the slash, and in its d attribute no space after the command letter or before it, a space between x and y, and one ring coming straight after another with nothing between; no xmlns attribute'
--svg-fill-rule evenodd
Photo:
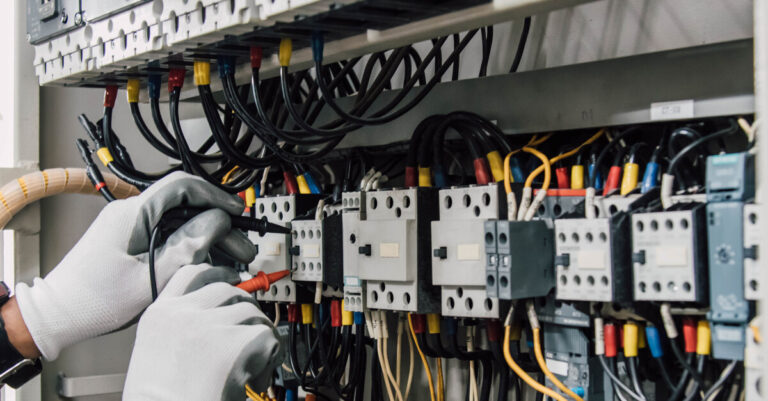
<svg viewBox="0 0 768 401"><path fill-rule="evenodd" d="M317 206L319 195L286 195L256 199L256 217L266 217L273 223L290 226L296 217L307 213ZM256 258L249 265L251 274L259 271L271 273L278 270L290 269L292 255L290 252L290 234L266 234L263 237L249 233L251 242L256 245ZM259 291L256 298L260 301L301 302L308 300L310 295L296 287L296 284L286 277L272 285L268 292Z"/></svg>

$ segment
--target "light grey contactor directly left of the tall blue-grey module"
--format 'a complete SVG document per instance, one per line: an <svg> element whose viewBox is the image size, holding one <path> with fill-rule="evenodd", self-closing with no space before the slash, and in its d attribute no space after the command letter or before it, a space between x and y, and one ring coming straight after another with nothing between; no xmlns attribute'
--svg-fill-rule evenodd
<svg viewBox="0 0 768 401"><path fill-rule="evenodd" d="M706 303L704 205L633 214L632 273L635 301Z"/></svg>

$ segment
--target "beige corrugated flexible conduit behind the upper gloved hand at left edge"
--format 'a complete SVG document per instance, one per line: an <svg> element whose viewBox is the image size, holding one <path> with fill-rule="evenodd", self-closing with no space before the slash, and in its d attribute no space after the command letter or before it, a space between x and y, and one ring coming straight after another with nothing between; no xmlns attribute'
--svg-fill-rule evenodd
<svg viewBox="0 0 768 401"><path fill-rule="evenodd" d="M104 183L118 199L139 194L133 185L113 174L103 173ZM84 168L52 168L23 175L0 187L0 230L28 204L53 195L98 192Z"/></svg>

